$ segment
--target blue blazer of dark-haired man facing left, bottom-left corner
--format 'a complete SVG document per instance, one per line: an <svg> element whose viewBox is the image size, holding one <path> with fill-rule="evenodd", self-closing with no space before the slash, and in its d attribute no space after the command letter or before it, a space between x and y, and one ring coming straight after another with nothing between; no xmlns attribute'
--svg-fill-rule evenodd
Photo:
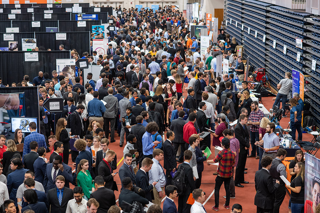
<svg viewBox="0 0 320 213"><path fill-rule="evenodd" d="M24 181L24 174L28 171L27 169L16 169L8 175L7 179L7 187L9 192L9 198L15 201L15 205L17 206L17 190L19 186Z"/></svg>

